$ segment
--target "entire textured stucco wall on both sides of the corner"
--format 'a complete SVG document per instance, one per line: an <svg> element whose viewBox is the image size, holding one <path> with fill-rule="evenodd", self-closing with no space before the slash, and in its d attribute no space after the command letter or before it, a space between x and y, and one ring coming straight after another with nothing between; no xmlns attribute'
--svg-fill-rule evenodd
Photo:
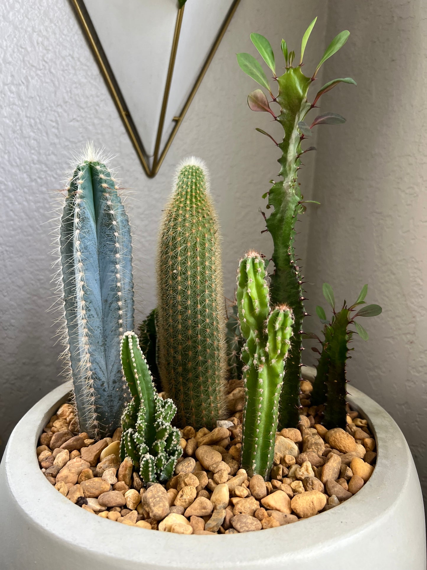
<svg viewBox="0 0 427 570"><path fill-rule="evenodd" d="M355 296L369 283L369 300L384 312L366 322L368 343L356 340L348 377L396 419L425 481L425 11L421 0L301 0L295 9L284 0L241 0L158 176L150 180L67 0L0 4L3 447L19 418L61 381L54 315L47 312L54 301L49 211L72 152L89 139L105 146L117 154L113 164L133 190L128 203L137 321L155 306L155 243L175 165L188 154L204 158L221 221L225 295L231 297L240 255L249 247L270 254L258 207L278 172L276 149L254 131L274 133L277 125L247 108L254 84L234 54L253 53L251 31L268 36L277 59L284 36L298 54L306 26L318 15L307 67L348 28L347 46L323 66L318 84L352 76L358 87L340 86L325 96L322 111L342 113L347 123L318 128L318 154L310 153L301 171L305 197L322 202L310 206L299 225L309 312L321 302L324 280L337 298ZM315 329L315 321L307 319L306 328ZM311 351L306 353L309 361Z"/></svg>

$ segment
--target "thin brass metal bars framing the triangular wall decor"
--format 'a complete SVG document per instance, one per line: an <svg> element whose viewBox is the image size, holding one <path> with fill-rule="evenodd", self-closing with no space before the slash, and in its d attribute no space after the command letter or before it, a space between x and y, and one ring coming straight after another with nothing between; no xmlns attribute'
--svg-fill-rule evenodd
<svg viewBox="0 0 427 570"><path fill-rule="evenodd" d="M191 89L191 93L188 96L188 99L187 99L186 103L184 104L184 107L182 108L182 111L180 112L179 116L176 116L173 119L175 121L173 131L171 132L169 139L167 139L165 148L163 148L163 150L161 151L160 145L161 145L161 140L162 140L163 127L165 125L165 115L166 115L166 109L167 109L167 102L169 100L170 86L171 86L171 82L172 82L172 76L174 73L176 50L178 48L179 34L180 34L181 24L182 24L182 17L184 14L184 6L178 10L178 15L176 17L176 24L175 24L174 39L173 39L172 49L171 49L171 54L170 54L170 59L169 59L169 68L167 70L165 92L163 93L162 109L161 109L159 124L158 124L158 128L157 128L157 136L156 136L156 140L155 140L153 165L151 166L151 168L149 166L149 157L147 156L147 153L145 152L145 149L144 149L142 141L141 141L141 137L139 136L137 128L136 128L136 126L132 120L132 116L130 116L128 107L126 106L126 102L125 102L125 99L122 95L120 87L117 84L116 78L114 78L112 68L110 67L110 64L108 63L108 59L106 58L105 52L102 49L102 45L101 45L101 42L100 42L98 35L96 33L95 27L93 26L91 18L89 17L88 11L84 5L84 0L71 0L71 3L72 3L72 6L74 7L74 9L76 11L77 17L79 19L81 27L83 28L85 36L88 39L89 46L91 47L91 49L93 51L93 55L95 55L96 62L98 63L98 66L100 67L100 71L101 71L102 76L104 76L105 83L106 83L106 85L107 85L107 87L108 87L108 89L109 89L109 91L113 97L114 103L116 104L117 110L118 110L118 112L121 116L121 119L125 125L126 131L128 131L128 134L130 136L130 140L132 140L132 144L133 144L133 146L134 146L134 148L138 154L138 157L139 157L139 160L141 161L143 169L145 170L145 173L147 174L147 176L149 176L150 178L154 178L154 176L159 172L159 168L160 168L160 166L161 166L161 164L162 164L162 162L166 156L167 151L170 148L170 145L172 144L172 141L174 140L176 132L179 129L179 125L182 123L184 116L186 115L186 112L188 111L188 107L190 107L191 101L193 100L193 97L195 96L196 91L198 90L198 88L200 86L200 83L202 83L202 80L204 78L204 74L206 74L206 71L207 71L208 67L210 66L210 63L213 59L213 56L215 55L215 52L216 52L219 44L221 43L221 39L223 39L225 31L227 30L227 27L228 27L229 23L231 22L231 19L232 19L233 15L237 9L237 6L240 3L240 0L234 0L234 2L232 3L232 5L228 11L227 16L225 17L223 25L221 26L219 33L216 36L216 39L215 39L215 42L213 43L211 51L209 52L209 54L207 56L206 62L203 65L202 71L200 71L200 74L199 74L198 78L196 79L194 87Z"/></svg>

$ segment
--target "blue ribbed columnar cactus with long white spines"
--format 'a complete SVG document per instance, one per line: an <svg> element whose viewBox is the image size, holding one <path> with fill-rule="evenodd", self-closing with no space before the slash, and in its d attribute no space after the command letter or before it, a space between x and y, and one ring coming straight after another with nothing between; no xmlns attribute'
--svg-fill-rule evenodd
<svg viewBox="0 0 427 570"><path fill-rule="evenodd" d="M125 403L120 340L133 328L132 245L116 181L88 145L66 188L60 223L64 355L79 426L104 437Z"/></svg>

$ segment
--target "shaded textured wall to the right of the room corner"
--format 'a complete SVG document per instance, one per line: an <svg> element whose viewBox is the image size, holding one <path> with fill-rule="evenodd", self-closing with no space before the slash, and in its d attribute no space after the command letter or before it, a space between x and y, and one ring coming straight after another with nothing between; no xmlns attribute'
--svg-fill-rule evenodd
<svg viewBox="0 0 427 570"><path fill-rule="evenodd" d="M332 1L327 35L343 28L350 39L325 80L351 76L358 87L336 87L322 104L347 123L319 127L310 312L326 307L323 281L340 300L369 284L383 314L360 319L371 338L355 340L348 378L395 418L427 487L427 5Z"/></svg>

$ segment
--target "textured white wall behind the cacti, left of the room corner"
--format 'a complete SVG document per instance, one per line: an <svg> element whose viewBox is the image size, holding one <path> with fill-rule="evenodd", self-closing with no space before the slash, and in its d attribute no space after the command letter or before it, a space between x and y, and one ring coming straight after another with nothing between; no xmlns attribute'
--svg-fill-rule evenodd
<svg viewBox="0 0 427 570"><path fill-rule="evenodd" d="M191 1L191 0L190 0ZM249 247L270 253L258 207L276 175L277 152L256 126L269 130L264 113L245 102L255 88L239 70L238 51L254 48L251 31L268 36L280 60L280 40L299 42L319 16L307 47L317 63L324 44L327 10L322 0L303 0L298 10L283 0L241 0L215 59L156 178L142 172L92 54L67 0L3 0L0 3L0 438L28 408L60 382L59 346L47 314L51 290L52 190L61 188L73 151L88 139L118 154L124 186L134 189L136 294L139 316L155 306L154 257L158 221L177 162L188 154L207 161L212 194L223 228L225 294L233 295L237 259ZM320 46L320 47L319 47ZM274 132L271 125L271 131ZM310 196L314 156L301 176ZM301 228L307 226L307 221ZM305 257L307 233L298 242Z"/></svg>

